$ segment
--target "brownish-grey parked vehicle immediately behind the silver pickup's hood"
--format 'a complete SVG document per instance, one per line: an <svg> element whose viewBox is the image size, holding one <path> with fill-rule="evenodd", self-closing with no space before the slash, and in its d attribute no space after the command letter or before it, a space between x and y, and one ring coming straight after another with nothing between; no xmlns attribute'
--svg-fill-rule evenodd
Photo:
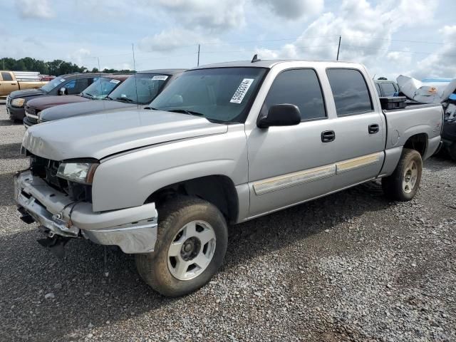
<svg viewBox="0 0 456 342"><path fill-rule="evenodd" d="M185 69L157 69L140 71L130 76L115 88L103 101L71 103L48 108L38 115L38 123L88 115L101 111L119 108L148 105L172 81L178 78Z"/></svg>

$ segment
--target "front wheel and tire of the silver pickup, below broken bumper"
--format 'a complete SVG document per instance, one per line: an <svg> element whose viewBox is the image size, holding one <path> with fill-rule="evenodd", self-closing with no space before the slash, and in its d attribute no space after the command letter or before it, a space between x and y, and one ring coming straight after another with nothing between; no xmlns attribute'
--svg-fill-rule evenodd
<svg viewBox="0 0 456 342"><path fill-rule="evenodd" d="M217 207L195 197L176 197L159 208L155 251L136 254L136 267L155 291L183 296L207 284L218 271L227 242L227 222Z"/></svg>

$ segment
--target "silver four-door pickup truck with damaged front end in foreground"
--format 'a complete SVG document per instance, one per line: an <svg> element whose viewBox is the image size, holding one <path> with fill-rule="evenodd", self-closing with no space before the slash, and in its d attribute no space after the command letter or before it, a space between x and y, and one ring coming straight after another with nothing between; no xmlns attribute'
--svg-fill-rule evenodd
<svg viewBox="0 0 456 342"><path fill-rule="evenodd" d="M30 128L15 197L42 244L117 245L153 289L181 296L221 266L227 224L378 178L412 199L441 129L440 105L382 110L360 64L202 66L147 109Z"/></svg>

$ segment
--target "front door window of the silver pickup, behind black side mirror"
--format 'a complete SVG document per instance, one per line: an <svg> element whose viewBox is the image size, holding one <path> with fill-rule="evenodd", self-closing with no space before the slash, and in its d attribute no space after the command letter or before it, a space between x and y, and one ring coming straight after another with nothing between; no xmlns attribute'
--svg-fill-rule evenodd
<svg viewBox="0 0 456 342"><path fill-rule="evenodd" d="M314 69L279 73L269 89L263 110L282 103L296 105L301 111L301 120L326 118L323 93Z"/></svg>

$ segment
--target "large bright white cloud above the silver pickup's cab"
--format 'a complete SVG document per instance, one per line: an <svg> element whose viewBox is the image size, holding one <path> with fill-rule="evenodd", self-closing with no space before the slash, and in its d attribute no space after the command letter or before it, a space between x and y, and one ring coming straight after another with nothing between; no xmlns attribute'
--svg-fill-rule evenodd
<svg viewBox="0 0 456 342"><path fill-rule="evenodd" d="M437 0L414 0L413 4L410 0L401 0L396 6L389 0L377 6L366 0L344 0L338 14L322 14L293 43L275 51L261 48L259 51L279 58L334 60L340 35L339 59L369 64L376 63L376 58L382 56L392 61L399 57L394 53L388 56L393 33L404 26L418 24L415 19L431 19L436 5Z"/></svg>

